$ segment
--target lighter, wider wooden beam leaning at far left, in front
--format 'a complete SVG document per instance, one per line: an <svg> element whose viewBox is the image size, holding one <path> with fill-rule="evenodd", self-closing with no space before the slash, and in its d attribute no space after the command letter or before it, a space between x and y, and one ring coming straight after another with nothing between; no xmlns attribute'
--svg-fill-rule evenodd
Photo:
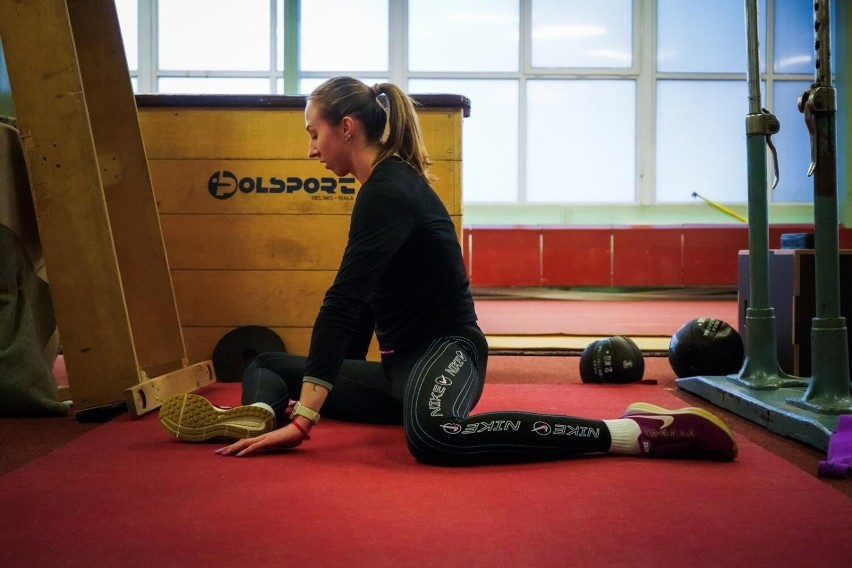
<svg viewBox="0 0 852 568"><path fill-rule="evenodd" d="M0 0L0 36L78 410L139 382L64 0Z"/></svg>

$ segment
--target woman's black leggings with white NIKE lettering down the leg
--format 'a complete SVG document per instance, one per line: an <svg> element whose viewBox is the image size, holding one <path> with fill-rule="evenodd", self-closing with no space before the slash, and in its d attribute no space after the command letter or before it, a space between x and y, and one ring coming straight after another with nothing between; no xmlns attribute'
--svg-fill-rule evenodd
<svg viewBox="0 0 852 568"><path fill-rule="evenodd" d="M498 411L471 415L482 395L488 344L476 326L463 326L421 349L381 363L346 360L322 415L336 420L403 424L421 462L472 465L560 459L605 452L609 430L600 420ZM263 353L243 375L242 403L265 402L279 424L298 397L306 359Z"/></svg>

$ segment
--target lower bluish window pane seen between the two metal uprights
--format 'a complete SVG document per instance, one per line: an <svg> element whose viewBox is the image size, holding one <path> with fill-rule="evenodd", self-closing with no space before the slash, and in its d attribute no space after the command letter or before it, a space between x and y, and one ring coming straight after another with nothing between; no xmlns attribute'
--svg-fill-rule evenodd
<svg viewBox="0 0 852 568"><path fill-rule="evenodd" d="M772 201L813 201L814 180L808 177L811 163L811 142L805 115L799 112L798 98L811 83L808 81L777 81L773 114L781 121L781 130L772 136L778 150L780 180L772 192ZM771 175L771 174L770 174Z"/></svg>

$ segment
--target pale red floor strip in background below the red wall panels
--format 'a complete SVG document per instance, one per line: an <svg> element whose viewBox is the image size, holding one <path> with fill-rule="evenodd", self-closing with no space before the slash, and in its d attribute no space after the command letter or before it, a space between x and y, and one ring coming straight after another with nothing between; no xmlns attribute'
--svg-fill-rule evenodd
<svg viewBox="0 0 852 568"><path fill-rule="evenodd" d="M737 328L734 300L512 300L476 299L486 334L505 335L662 335L686 322L711 317Z"/></svg>

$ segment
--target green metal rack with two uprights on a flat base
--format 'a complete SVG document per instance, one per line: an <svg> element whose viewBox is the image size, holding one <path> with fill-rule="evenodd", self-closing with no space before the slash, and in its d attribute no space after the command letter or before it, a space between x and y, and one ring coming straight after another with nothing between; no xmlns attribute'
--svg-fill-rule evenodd
<svg viewBox="0 0 852 568"><path fill-rule="evenodd" d="M685 377L677 385L768 430L827 450L841 414L852 413L846 320L840 312L837 214L837 91L831 84L829 0L814 1L815 81L799 97L811 139L808 175L814 179L815 317L811 324L810 378L781 371L775 311L769 304L769 224L766 148L778 119L761 108L757 0L745 0L749 113L748 235L751 298L746 310L746 353L740 372ZM774 184L773 184L774 187Z"/></svg>

